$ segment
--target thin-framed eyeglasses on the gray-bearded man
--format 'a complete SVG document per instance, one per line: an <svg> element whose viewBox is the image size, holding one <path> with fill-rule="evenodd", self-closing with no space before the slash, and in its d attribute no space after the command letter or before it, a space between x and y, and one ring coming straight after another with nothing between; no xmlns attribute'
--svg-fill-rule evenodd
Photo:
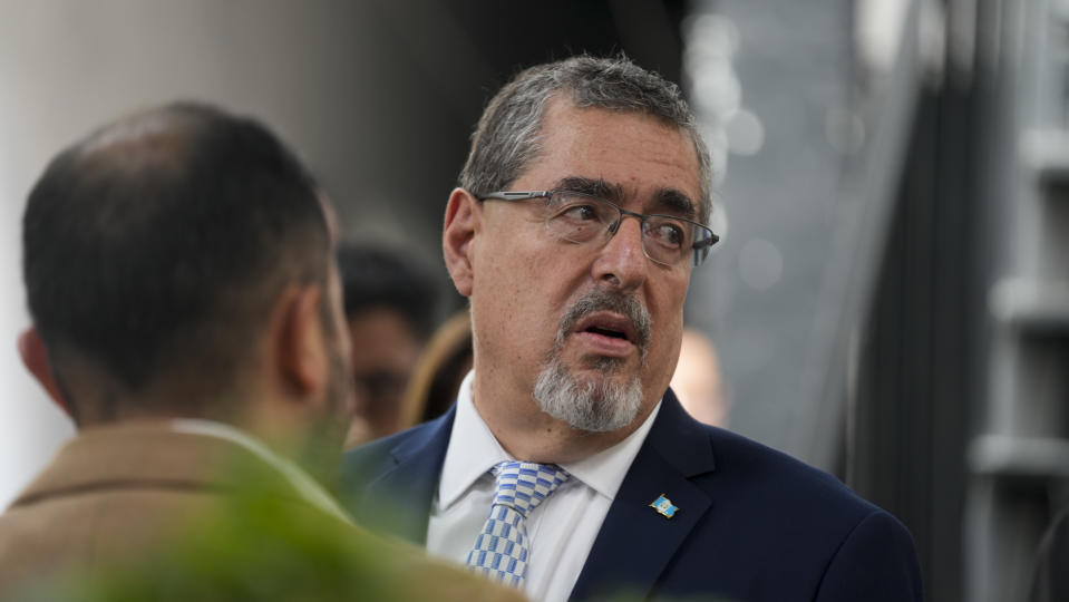
<svg viewBox="0 0 1069 602"><path fill-rule="evenodd" d="M694 265L701 265L709 247L720 240L708 227L672 215L644 215L628 211L604 198L574 191L493 192L479 201L527 201L545 198L546 232L568 242L583 244L601 236L611 239L620 230L624 215L642 224L642 252L662 265L676 266L693 252Z"/></svg>

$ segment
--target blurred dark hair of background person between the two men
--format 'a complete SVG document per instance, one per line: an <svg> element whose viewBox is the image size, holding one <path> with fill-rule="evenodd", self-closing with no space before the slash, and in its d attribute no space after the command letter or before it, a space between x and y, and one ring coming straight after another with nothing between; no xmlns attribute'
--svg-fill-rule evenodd
<svg viewBox="0 0 1069 602"><path fill-rule="evenodd" d="M437 323L438 289L430 270L399 249L372 243L338 247L346 317L375 308L397 311L417 337L426 339Z"/></svg>

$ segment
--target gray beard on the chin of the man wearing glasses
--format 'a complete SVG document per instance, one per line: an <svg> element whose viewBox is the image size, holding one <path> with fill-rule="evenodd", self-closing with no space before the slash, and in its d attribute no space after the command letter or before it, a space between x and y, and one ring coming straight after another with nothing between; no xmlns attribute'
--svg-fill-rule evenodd
<svg viewBox="0 0 1069 602"><path fill-rule="evenodd" d="M595 369L601 378L584 381L554 353L538 373L534 398L542 411L579 430L609 433L623 428L634 420L642 406L642 383L638 375L623 383L613 380L619 363L597 362Z"/></svg>

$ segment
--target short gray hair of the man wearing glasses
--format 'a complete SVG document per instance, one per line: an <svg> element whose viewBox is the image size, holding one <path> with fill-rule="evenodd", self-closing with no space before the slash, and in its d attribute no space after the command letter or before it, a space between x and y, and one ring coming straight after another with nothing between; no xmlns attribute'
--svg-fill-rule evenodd
<svg viewBox="0 0 1069 602"><path fill-rule="evenodd" d="M699 220L708 223L712 166L694 114L679 86L624 56L572 57L521 71L490 99L472 136L472 151L459 185L480 195L507 187L543 151L542 115L546 100L571 94L579 108L652 115L686 132L698 154Z"/></svg>

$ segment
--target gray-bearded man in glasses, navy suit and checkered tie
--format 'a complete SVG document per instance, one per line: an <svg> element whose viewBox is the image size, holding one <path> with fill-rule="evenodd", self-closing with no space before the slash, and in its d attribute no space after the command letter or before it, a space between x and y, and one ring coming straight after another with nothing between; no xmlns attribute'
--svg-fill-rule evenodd
<svg viewBox="0 0 1069 602"><path fill-rule="evenodd" d="M349 454L358 516L534 600L920 599L901 523L668 389L711 181L679 89L624 58L506 85L443 235L475 368L448 415Z"/></svg>

